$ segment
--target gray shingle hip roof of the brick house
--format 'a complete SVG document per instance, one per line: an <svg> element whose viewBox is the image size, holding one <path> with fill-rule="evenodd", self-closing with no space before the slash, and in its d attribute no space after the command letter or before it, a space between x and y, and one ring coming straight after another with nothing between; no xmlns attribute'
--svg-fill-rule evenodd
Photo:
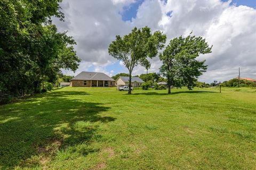
<svg viewBox="0 0 256 170"><path fill-rule="evenodd" d="M110 78L105 73L97 73L97 72L81 72L76 75L71 80L105 80L105 81L115 81L114 79Z"/></svg>

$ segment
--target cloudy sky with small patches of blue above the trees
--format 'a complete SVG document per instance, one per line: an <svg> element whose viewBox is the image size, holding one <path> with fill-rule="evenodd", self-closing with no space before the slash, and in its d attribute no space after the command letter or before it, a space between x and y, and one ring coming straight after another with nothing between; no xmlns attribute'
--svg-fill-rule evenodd
<svg viewBox="0 0 256 170"><path fill-rule="evenodd" d="M81 71L104 72L113 76L127 72L123 63L108 54L116 35L124 36L134 27L161 30L166 45L178 36L202 36L212 53L200 55L207 71L199 81L211 83L237 77L256 79L256 0L63 0L65 22L53 18L60 32L68 31L76 40L75 50L82 62ZM149 72L158 72L161 61L150 60ZM135 67L133 75L146 73Z"/></svg>

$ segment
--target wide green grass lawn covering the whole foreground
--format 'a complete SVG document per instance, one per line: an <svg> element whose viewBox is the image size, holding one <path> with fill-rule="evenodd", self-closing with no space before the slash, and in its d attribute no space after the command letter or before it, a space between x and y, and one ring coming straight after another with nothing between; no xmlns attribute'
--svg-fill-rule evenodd
<svg viewBox="0 0 256 170"><path fill-rule="evenodd" d="M0 106L0 169L256 169L256 89L62 88Z"/></svg>

